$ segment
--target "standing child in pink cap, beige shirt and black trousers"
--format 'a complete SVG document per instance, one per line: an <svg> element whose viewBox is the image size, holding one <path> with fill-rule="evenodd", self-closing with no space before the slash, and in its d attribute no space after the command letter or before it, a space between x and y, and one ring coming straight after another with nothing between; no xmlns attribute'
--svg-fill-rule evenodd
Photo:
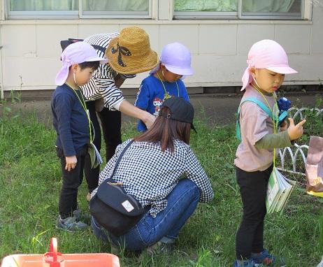
<svg viewBox="0 0 323 267"><path fill-rule="evenodd" d="M278 131L279 110L275 91L282 85L285 74L296 71L289 67L282 46L272 40L254 43L248 54L247 65L241 89L245 93L237 122L241 143L234 160L243 202L243 219L236 233L234 266L285 266L282 259L264 249L265 199L273 169L274 150L291 146L292 140L303 134L305 120L294 125L292 118L289 118L288 129L287 122L283 122Z"/></svg>

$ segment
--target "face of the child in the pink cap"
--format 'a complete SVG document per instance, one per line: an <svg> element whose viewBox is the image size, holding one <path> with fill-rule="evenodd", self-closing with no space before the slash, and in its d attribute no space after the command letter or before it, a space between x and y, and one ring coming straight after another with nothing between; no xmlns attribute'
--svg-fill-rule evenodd
<svg viewBox="0 0 323 267"><path fill-rule="evenodd" d="M259 89L267 93L275 92L285 79L285 74L275 73L266 68L253 68L250 71L260 87Z"/></svg>

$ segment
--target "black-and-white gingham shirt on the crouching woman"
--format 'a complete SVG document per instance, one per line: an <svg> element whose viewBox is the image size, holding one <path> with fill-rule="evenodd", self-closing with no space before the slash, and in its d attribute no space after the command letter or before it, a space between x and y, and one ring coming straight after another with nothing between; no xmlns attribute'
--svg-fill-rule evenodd
<svg viewBox="0 0 323 267"><path fill-rule="evenodd" d="M100 173L99 185L110 178L117 158L129 141L117 146L115 155ZM161 152L160 143L132 143L113 176L116 182L122 182L125 192L134 196L143 207L151 205L149 212L152 217L166 208L166 196L181 178L188 178L199 187L200 202L213 199L213 189L205 171L189 145L180 140L174 140L173 153L169 150ZM97 188L92 196L96 191Z"/></svg>

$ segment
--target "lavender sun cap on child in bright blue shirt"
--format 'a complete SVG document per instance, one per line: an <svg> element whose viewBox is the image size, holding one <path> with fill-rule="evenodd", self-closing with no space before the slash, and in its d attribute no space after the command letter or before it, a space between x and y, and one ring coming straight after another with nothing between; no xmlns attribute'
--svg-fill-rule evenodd
<svg viewBox="0 0 323 267"><path fill-rule="evenodd" d="M191 52L181 43L168 43L161 50L160 63L164 64L168 71L178 75L193 75L191 68ZM150 74L156 73L160 64L150 71Z"/></svg>

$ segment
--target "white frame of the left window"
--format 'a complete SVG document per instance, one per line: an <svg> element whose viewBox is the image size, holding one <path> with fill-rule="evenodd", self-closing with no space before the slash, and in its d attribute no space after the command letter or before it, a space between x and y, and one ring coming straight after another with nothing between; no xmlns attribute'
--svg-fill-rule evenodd
<svg viewBox="0 0 323 267"><path fill-rule="evenodd" d="M78 0L78 10L64 11L10 11L10 0L4 0L7 20L31 19L152 19L152 0L148 0L148 11L83 11L82 0Z"/></svg>

